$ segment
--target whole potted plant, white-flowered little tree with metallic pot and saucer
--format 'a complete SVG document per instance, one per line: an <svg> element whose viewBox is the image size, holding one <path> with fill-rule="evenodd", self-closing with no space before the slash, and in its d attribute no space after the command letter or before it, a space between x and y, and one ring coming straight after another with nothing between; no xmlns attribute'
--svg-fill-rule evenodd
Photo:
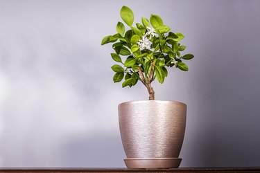
<svg viewBox="0 0 260 173"><path fill-rule="evenodd" d="M125 165L128 168L179 167L178 158L186 125L187 106L181 102L155 100L152 82L163 83L168 75L166 68L188 71L183 60L191 60L192 54L181 55L186 46L179 42L182 33L173 33L158 15L150 19L141 17L134 23L130 8L121 8L121 19L125 24L116 24L117 33L103 38L101 45L112 44L112 59L117 62L111 68L115 72L114 82L122 86L144 84L149 100L123 102L119 104L119 127L125 149Z"/></svg>

